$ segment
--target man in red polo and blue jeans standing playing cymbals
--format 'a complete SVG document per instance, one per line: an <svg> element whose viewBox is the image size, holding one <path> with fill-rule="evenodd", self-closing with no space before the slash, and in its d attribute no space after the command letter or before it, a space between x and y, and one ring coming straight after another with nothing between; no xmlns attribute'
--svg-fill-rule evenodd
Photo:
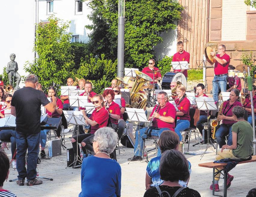
<svg viewBox="0 0 256 197"><path fill-rule="evenodd" d="M218 54L211 52L212 57L216 60L214 64L214 78L212 80L212 97L215 102L219 100L219 89L221 92L227 91L227 73L230 63L230 56L226 54L226 46L221 44L218 47Z"/></svg>

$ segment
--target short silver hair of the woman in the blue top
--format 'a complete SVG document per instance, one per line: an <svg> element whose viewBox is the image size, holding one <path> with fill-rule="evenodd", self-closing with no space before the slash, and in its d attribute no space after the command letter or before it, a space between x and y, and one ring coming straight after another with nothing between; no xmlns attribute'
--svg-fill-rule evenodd
<svg viewBox="0 0 256 197"><path fill-rule="evenodd" d="M93 137L99 144L99 151L112 153L117 145L118 135L111 127L99 128Z"/></svg>

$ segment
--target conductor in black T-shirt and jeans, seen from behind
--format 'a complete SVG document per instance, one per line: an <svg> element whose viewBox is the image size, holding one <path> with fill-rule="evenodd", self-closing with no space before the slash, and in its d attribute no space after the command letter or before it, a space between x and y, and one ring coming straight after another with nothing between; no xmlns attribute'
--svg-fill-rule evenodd
<svg viewBox="0 0 256 197"><path fill-rule="evenodd" d="M11 100L11 114L16 117L16 166L18 171L17 184L27 186L39 185L43 181L36 179L36 165L40 144L41 105L48 111L56 109L56 97L50 102L44 92L36 90L38 77L29 74L25 80L25 87L14 92ZM27 169L25 167L26 152L28 151Z"/></svg>

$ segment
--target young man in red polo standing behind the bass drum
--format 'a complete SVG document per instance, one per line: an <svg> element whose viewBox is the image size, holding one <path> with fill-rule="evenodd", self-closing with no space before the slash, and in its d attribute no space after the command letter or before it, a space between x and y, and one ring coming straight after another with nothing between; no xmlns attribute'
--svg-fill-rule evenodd
<svg viewBox="0 0 256 197"><path fill-rule="evenodd" d="M186 52L184 50L184 44L182 41L179 41L177 43L177 48L179 50L178 53L175 53L172 57L172 62L182 62L182 61L187 61L189 63L189 59L190 59L190 54L188 52ZM184 74L184 76L186 77L187 80L187 70L173 70L173 68L171 68L170 72L182 72Z"/></svg>

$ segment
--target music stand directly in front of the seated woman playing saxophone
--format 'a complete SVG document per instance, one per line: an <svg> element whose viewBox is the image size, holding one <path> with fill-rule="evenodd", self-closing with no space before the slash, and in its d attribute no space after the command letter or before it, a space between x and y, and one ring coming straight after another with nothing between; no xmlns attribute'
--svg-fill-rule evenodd
<svg viewBox="0 0 256 197"><path fill-rule="evenodd" d="M197 104L197 108L198 110L207 110L207 116L209 117L209 111L210 110L218 110L217 106L215 105L215 101L213 100L212 97L198 97L196 98L196 104ZM204 141L207 141L207 145L206 145L206 149L204 151L204 153L201 155L201 159L203 158L204 154L206 153L207 149L209 148L209 141L211 143L211 145L215 148L215 146L212 144L212 141L210 139L210 118L207 119L208 121L208 138L205 139ZM204 142L202 141L202 142ZM194 144L193 146L195 146L196 144ZM201 160L200 159L200 160Z"/></svg>

